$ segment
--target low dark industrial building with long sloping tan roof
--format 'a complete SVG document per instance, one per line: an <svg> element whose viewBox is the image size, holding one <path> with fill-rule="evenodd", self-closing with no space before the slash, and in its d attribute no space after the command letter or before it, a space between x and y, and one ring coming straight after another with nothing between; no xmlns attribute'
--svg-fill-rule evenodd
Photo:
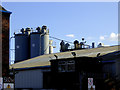
<svg viewBox="0 0 120 90"><path fill-rule="evenodd" d="M118 45L53 53L12 64L10 69L15 75L15 88L86 90L87 78L94 79L96 90L108 87L109 83L112 83L110 88L119 88L119 47ZM106 81L104 86L105 80L108 82Z"/></svg>

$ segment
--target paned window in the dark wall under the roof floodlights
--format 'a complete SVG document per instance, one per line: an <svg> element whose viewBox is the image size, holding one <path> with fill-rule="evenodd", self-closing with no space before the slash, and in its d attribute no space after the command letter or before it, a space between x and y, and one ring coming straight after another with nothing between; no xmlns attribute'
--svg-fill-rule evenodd
<svg viewBox="0 0 120 90"><path fill-rule="evenodd" d="M75 71L75 61L59 61L58 62L59 72L74 72Z"/></svg>

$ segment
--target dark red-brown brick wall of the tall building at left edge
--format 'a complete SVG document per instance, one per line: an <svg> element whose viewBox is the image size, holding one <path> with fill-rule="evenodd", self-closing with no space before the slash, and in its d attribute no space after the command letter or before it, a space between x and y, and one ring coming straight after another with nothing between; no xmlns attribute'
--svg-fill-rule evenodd
<svg viewBox="0 0 120 90"><path fill-rule="evenodd" d="M9 72L9 13L2 13L2 76Z"/></svg>

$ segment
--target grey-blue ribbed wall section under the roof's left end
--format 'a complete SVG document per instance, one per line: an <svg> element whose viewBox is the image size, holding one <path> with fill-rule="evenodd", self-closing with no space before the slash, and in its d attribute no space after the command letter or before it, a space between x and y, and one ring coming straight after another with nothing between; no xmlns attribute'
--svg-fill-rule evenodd
<svg viewBox="0 0 120 90"><path fill-rule="evenodd" d="M19 71L15 75L15 88L43 88L41 69Z"/></svg>

